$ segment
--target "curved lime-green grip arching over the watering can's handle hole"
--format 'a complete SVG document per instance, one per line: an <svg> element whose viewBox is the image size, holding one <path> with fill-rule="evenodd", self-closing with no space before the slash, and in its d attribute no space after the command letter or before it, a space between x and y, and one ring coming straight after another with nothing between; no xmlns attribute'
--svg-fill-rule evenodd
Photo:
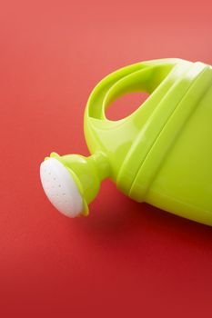
<svg viewBox="0 0 212 318"><path fill-rule="evenodd" d="M161 59L129 65L107 75L96 85L86 104L86 119L106 118L106 108L123 94L132 92L152 93L171 69L185 61Z"/></svg>

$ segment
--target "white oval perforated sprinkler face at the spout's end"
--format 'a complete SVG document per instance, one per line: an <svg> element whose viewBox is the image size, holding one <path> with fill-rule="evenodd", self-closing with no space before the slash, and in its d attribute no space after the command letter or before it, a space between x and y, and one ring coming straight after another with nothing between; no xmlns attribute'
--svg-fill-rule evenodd
<svg viewBox="0 0 212 318"><path fill-rule="evenodd" d="M46 196L59 212L69 217L83 213L82 195L64 164L56 158L45 160L40 165L40 177Z"/></svg>

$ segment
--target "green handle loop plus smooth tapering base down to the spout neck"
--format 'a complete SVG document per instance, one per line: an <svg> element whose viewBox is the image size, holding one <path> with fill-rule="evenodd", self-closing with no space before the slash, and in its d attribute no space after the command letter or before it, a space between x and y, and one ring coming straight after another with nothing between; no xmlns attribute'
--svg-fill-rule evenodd
<svg viewBox="0 0 212 318"><path fill-rule="evenodd" d="M90 153L101 151L106 154L113 180L116 181L121 161L130 145L180 72L185 71L185 65L187 68L191 63L180 59L162 59L129 65L106 76L90 94L84 119L86 144ZM157 86L160 89L156 89ZM144 91L151 95L133 114L118 121L106 118L106 108L116 98Z"/></svg>

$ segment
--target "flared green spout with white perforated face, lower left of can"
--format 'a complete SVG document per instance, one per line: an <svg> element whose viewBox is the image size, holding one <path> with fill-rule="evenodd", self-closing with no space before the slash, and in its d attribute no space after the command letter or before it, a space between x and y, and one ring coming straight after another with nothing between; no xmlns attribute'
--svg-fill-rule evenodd
<svg viewBox="0 0 212 318"><path fill-rule="evenodd" d="M109 174L106 154L102 152L89 157L52 153L40 166L46 196L57 210L69 217L88 214L88 204L95 199L100 183Z"/></svg>

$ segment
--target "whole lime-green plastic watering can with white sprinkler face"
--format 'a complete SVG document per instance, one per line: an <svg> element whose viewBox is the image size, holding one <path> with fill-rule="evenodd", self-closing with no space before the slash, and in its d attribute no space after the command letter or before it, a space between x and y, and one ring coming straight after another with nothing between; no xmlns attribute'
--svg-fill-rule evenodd
<svg viewBox="0 0 212 318"><path fill-rule="evenodd" d="M110 121L121 95L147 92L144 104ZM212 67L180 59L129 65L90 95L86 143L92 154L52 153L41 164L45 194L61 213L88 214L109 177L137 202L212 225Z"/></svg>

